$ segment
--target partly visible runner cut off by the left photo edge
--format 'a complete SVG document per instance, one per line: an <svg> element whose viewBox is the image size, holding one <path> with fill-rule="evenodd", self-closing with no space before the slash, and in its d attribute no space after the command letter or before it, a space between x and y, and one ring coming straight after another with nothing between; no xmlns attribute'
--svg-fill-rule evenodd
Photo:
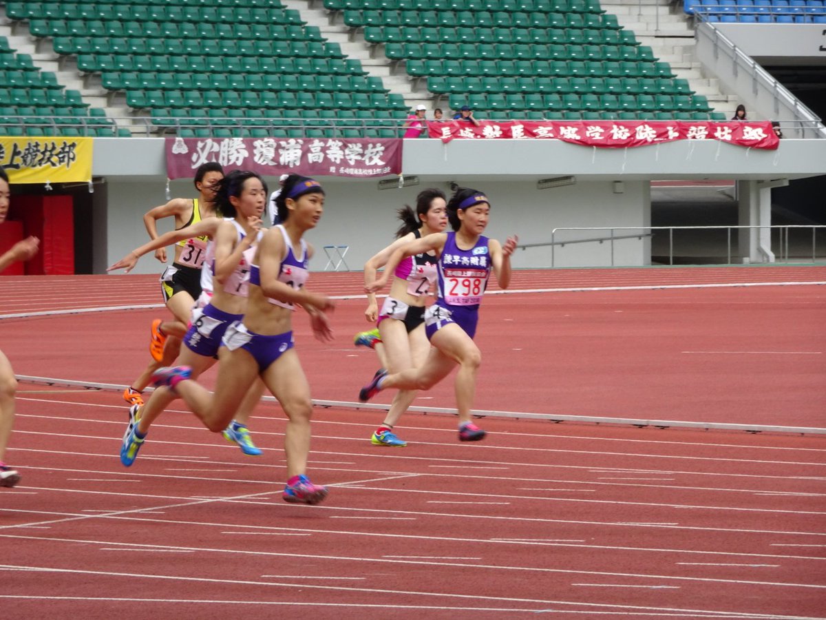
<svg viewBox="0 0 826 620"><path fill-rule="evenodd" d="M6 221L10 195L6 170L0 167L0 224ZM40 240L36 236L17 241L11 250L0 255L0 273L18 260L29 260L37 254L38 246L40 246ZM15 393L17 393L17 379L14 377L14 370L6 355L0 351L0 487L13 487L20 482L20 474L17 470L3 461L14 425Z"/></svg>

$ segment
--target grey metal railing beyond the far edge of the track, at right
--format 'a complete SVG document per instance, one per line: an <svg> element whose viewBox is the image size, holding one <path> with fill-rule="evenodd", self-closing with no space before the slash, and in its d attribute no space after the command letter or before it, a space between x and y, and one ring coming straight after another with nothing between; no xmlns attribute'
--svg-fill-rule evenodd
<svg viewBox="0 0 826 620"><path fill-rule="evenodd" d="M742 231L742 230L757 230L763 231L768 230L770 231L769 234L771 235L772 232L777 232L777 247L779 251L776 255L771 255L766 248L762 246L758 246L758 250L763 256L763 259L766 262L790 262L791 258L791 242L790 242L790 231L793 230L800 230L800 229L811 229L812 236L811 236L811 260L812 262L818 262L818 255L817 255L817 231L826 229L826 225L822 224L787 224L787 225L754 225L754 226L652 226L652 227L644 227L644 226L636 226L636 227L559 227L554 228L551 231L551 241L547 243L527 243L521 244L518 246L521 250L528 250L529 248L535 247L550 247L551 248L551 267L556 266L556 249L557 246L564 247L572 244L577 243L605 243L606 241L610 244L610 265L612 267L615 266L615 242L626 240L626 239L638 239L642 241L645 237L653 237L655 236L656 231L668 231L668 264L674 265L674 231L713 231L713 230L724 230L726 231L726 264L733 265L732 257L733 257L733 242L732 242L732 231ZM569 231L609 231L608 236L596 236L596 237L586 237L586 238L574 238L574 239L566 239L565 241L558 241L558 234L569 232ZM616 235L616 231L636 231L631 234L622 234ZM826 244L824 244L826 245ZM802 255L795 256L795 260L808 260L809 255L808 252L805 255L805 259ZM826 261L826 254L820 259Z"/></svg>

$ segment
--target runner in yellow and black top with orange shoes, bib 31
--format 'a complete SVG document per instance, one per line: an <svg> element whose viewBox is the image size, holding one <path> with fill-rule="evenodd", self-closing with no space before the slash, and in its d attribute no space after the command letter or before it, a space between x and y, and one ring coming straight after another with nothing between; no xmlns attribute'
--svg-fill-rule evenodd
<svg viewBox="0 0 826 620"><path fill-rule="evenodd" d="M224 178L224 169L217 162L208 162L195 171L193 183L199 198L173 198L160 207L154 207L144 215L144 225L150 239L156 240L158 220L175 218L175 230L192 226L214 217L217 184ZM164 269L160 277L164 302L173 313L173 321L154 319L151 327L150 354L153 361L137 379L123 391L123 399L131 405L142 405L142 392L150 384L150 377L163 365L172 364L181 350L181 338L187 333L189 315L195 300L201 294L201 267L207 247L206 236L193 236L175 244L172 265ZM166 263L166 247L155 250L155 258Z"/></svg>

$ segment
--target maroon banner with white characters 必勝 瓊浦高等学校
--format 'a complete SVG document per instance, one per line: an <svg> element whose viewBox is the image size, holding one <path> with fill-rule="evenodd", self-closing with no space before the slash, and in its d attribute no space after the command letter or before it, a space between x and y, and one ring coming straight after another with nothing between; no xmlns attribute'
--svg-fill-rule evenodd
<svg viewBox="0 0 826 620"><path fill-rule="evenodd" d="M198 166L217 161L262 176L382 177L401 173L395 138L167 138L166 174L191 179Z"/></svg>

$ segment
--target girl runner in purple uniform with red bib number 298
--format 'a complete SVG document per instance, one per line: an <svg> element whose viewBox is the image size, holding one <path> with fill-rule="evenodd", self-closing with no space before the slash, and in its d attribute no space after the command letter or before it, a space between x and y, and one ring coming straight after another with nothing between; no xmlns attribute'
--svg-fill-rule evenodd
<svg viewBox="0 0 826 620"><path fill-rule="evenodd" d="M430 389L455 366L456 406L459 414L459 441L479 441L486 433L471 421L476 376L482 353L473 342L479 319L482 294L491 269L502 289L510 284L510 255L517 238L508 237L505 246L482 236L487 227L491 203L475 189L458 188L447 206L452 232L439 232L396 248L385 265L382 277L365 290L375 293L406 256L434 251L438 255L439 297L425 312L425 333L430 339L430 355L425 365L396 374L378 374L358 394L362 402L382 389Z"/></svg>

